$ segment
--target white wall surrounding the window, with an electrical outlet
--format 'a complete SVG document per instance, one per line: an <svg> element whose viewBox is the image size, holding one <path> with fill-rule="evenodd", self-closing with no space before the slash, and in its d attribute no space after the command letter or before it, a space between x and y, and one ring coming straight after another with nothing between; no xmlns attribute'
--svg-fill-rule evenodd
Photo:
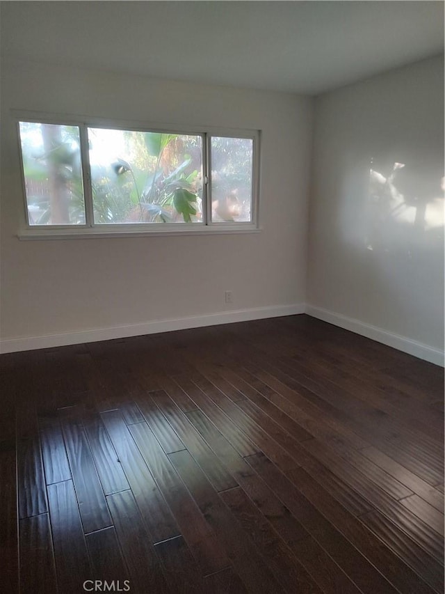
<svg viewBox="0 0 445 594"><path fill-rule="evenodd" d="M20 337L145 325L228 308L270 307L273 313L275 306L304 302L309 98L34 63L5 63L1 76L1 338L6 348L49 344L8 343ZM261 130L264 230L19 241L23 198L10 109ZM226 289L233 291L231 306L224 304ZM110 336L117 335L113 332Z"/></svg>

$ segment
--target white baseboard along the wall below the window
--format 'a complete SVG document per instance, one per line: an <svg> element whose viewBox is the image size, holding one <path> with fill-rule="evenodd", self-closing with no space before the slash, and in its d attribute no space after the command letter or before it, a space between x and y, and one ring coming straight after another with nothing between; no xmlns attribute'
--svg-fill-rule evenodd
<svg viewBox="0 0 445 594"><path fill-rule="evenodd" d="M156 320L129 326L95 328L90 330L65 332L63 334L7 338L6 340L0 341L0 352L6 353L77 345L81 343L94 343L96 341L108 341L113 338L127 338L128 336L156 334L158 332L170 332L172 330L231 324L232 322L247 322L248 320L261 320L263 318L278 318L282 315L296 315L298 313L305 313L304 303L238 309L235 311L220 311L218 313L209 313L205 315L191 315L186 318Z"/></svg>

